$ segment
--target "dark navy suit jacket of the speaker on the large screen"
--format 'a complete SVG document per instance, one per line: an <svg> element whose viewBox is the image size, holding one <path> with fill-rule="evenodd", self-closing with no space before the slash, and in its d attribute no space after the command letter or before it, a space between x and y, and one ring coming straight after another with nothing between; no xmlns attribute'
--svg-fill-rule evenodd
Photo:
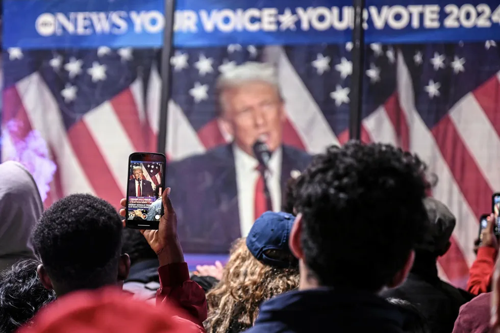
<svg viewBox="0 0 500 333"><path fill-rule="evenodd" d="M308 153L283 146L282 195L292 170L303 171ZM168 165L166 186L176 209L186 253L228 253L241 237L236 167L231 144Z"/></svg>

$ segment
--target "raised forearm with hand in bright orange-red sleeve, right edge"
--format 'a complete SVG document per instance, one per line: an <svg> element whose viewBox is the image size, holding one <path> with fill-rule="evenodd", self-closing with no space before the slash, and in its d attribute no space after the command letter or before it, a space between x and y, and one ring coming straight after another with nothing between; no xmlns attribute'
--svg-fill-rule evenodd
<svg viewBox="0 0 500 333"><path fill-rule="evenodd" d="M495 218L488 217L488 225L481 233L481 245L476 260L469 269L467 291L479 295L491 291L491 278L498 253L498 240L494 233Z"/></svg>

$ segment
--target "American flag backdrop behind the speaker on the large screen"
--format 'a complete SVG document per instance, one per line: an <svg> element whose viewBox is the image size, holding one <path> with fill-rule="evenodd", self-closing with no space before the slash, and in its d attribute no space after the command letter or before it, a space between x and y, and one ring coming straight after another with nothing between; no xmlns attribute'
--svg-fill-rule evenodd
<svg viewBox="0 0 500 333"><path fill-rule="evenodd" d="M317 153L344 143L352 96L351 49L352 43L177 49L171 59L169 159L232 140L217 121L214 83L220 72L249 60L271 62L279 70L287 111L286 144ZM126 171L123 161L131 151L145 150L155 142L151 135L158 131L161 92L156 55L143 51L139 56L141 52L135 51L129 59L130 51L105 50L101 56L99 50L57 53L63 57L58 70L51 66L53 52L15 50L4 59L2 129L8 130L12 119L27 124L10 141L23 140L33 129L40 132L58 165L54 198L90 192L117 202L126 187L121 181L126 177L121 175ZM82 72L74 77L72 67L66 69L71 57L82 61ZM98 83L101 88L87 72L94 62L108 69L107 78ZM437 174L433 195L457 216L452 247L439 259L439 273L464 286L474 260L479 216L491 211L491 194L500 190L500 174L495 172L500 161L497 43L371 44L366 47L364 67L362 140L416 152ZM94 75L98 74L97 70ZM65 99L72 95L61 95L68 84L78 85L76 100L82 102L68 103ZM78 116L68 116L73 113ZM137 131L137 124L143 132ZM3 146L4 159L8 147Z"/></svg>

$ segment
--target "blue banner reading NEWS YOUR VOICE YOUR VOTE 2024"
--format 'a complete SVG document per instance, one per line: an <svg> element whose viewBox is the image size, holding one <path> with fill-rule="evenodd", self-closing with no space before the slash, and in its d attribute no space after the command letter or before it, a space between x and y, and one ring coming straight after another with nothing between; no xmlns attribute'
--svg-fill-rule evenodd
<svg viewBox="0 0 500 333"><path fill-rule="evenodd" d="M498 40L498 0L371 0L367 43ZM384 4L385 3L385 4ZM4 0L4 47L161 47L163 0ZM343 43L351 0L178 0L174 44Z"/></svg>

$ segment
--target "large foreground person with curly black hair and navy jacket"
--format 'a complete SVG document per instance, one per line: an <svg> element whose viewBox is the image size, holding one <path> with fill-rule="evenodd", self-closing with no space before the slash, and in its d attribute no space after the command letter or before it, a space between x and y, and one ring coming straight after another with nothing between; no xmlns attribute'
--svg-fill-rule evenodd
<svg viewBox="0 0 500 333"><path fill-rule="evenodd" d="M401 332L377 294L403 283L426 229L420 159L388 144L331 146L298 177L290 249L299 290L262 304L248 332Z"/></svg>

